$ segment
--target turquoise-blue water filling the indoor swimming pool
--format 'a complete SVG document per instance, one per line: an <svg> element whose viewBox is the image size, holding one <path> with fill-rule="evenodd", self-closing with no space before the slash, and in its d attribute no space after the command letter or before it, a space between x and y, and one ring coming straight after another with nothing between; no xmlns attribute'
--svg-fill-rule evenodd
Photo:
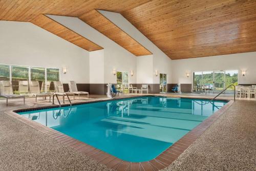
<svg viewBox="0 0 256 171"><path fill-rule="evenodd" d="M154 159L226 101L136 97L19 113L122 160Z"/></svg>

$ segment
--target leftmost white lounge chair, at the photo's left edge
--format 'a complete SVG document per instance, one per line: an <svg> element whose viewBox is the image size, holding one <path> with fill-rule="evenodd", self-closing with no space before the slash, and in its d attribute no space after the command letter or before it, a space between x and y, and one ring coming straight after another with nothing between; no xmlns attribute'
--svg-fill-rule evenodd
<svg viewBox="0 0 256 171"><path fill-rule="evenodd" d="M11 81L0 81L0 97L6 98L6 105L8 105L8 99L23 98L25 104L25 96L13 94Z"/></svg>

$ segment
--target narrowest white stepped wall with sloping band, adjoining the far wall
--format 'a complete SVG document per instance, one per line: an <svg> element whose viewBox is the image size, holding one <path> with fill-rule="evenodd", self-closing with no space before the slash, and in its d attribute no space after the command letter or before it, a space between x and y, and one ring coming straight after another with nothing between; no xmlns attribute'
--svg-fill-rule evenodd
<svg viewBox="0 0 256 171"><path fill-rule="evenodd" d="M131 37L133 37L142 46L144 46L146 49L148 49L153 53L153 68L152 68L152 71L149 72L150 74L152 74L152 78L153 78L153 81L151 81L152 83L159 83L160 81L159 74L157 77L154 75L155 70L158 70L158 73L167 74L167 83L171 83L172 60L167 55L165 55L155 44L153 44L152 41L150 41L146 36L144 36L136 27L134 27L120 13L103 11L103 10L98 10L98 11L102 15L104 15L106 18L110 19L111 22L113 22L116 26L121 28L124 32L126 32Z"/></svg>

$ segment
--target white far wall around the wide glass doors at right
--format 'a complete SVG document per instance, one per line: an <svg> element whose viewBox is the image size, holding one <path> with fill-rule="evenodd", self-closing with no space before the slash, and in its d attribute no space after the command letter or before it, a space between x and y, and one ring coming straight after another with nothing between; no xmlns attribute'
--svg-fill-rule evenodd
<svg viewBox="0 0 256 171"><path fill-rule="evenodd" d="M193 83L193 72L218 70L238 70L238 83L256 83L256 52L172 60L172 82Z"/></svg>

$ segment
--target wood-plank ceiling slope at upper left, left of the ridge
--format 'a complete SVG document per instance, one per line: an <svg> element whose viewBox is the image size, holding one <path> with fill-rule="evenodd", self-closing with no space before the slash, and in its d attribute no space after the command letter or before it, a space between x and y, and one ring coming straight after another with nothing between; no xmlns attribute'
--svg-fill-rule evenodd
<svg viewBox="0 0 256 171"><path fill-rule="evenodd" d="M39 14L78 17L93 9L123 12L149 0L1 0L0 20L30 22Z"/></svg>

